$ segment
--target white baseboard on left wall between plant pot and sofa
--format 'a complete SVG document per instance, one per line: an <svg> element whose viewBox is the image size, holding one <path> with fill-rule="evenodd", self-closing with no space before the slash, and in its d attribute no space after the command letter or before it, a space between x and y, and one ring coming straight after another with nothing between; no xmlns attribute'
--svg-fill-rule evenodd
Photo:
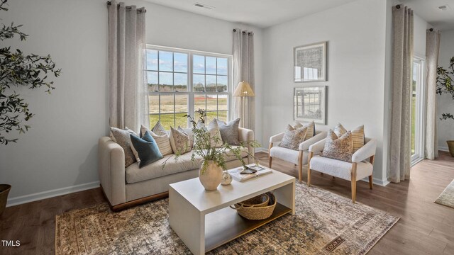
<svg viewBox="0 0 454 255"><path fill-rule="evenodd" d="M16 198L9 198L8 203L6 203L6 207L13 206L13 205L21 205L23 203L33 202L36 200L42 200L45 198L52 198L55 196L62 196L69 193L74 193L78 191L85 191L91 188L98 188L99 181L94 181L91 183L84 183L74 186L69 186L65 188L57 188L51 191L43 191L39 193L34 193L26 196L18 196Z"/></svg>

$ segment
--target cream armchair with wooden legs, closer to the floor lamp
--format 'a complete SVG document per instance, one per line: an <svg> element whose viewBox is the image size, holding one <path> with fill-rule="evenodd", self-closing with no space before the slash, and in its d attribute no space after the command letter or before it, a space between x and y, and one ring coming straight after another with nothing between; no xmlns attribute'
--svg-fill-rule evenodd
<svg viewBox="0 0 454 255"><path fill-rule="evenodd" d="M301 183L301 176L303 174L303 166L307 164L307 157L309 154L309 146L313 145L323 138L326 137L326 132L318 131L314 137L309 138L308 140L301 142L299 144L299 150L287 149L284 147L275 146L282 141L284 137L284 132L270 137L270 147L268 149L268 165L272 166L272 159L275 157L277 159L282 159L286 162L293 163L298 165L298 180Z"/></svg>

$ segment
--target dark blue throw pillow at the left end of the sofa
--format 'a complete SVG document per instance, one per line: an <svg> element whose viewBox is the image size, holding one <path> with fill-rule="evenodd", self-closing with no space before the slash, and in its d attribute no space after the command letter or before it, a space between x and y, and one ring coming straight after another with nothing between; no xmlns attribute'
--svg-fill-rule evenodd
<svg viewBox="0 0 454 255"><path fill-rule="evenodd" d="M159 159L162 159L162 154L157 147L155 139L147 131L142 138L131 135L131 144L140 159L139 168L151 164Z"/></svg>

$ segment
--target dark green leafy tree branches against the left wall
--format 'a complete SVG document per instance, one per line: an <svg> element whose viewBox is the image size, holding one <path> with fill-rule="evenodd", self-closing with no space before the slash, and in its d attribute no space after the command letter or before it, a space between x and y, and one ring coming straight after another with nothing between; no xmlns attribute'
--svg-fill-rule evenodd
<svg viewBox="0 0 454 255"><path fill-rule="evenodd" d="M8 11L5 7L8 0L0 0L0 11ZM23 41L28 35L22 33L19 28L22 25L10 26L2 24L0 28L0 40L4 41L18 36ZM58 77L61 69L55 67L50 55L39 56L26 55L21 50L11 50L11 47L0 48L0 144L8 145L9 142L17 142L18 138L7 138L5 133L16 130L20 133L28 131L31 125L25 125L23 120L28 121L33 117L28 108L28 103L14 88L26 86L29 89L40 87L45 92L55 89L53 81L48 81L48 74Z"/></svg>

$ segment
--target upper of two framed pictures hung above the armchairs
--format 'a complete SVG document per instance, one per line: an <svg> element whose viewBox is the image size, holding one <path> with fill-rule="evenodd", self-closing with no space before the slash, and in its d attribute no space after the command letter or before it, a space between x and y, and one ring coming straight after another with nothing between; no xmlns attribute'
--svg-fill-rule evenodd
<svg viewBox="0 0 454 255"><path fill-rule="evenodd" d="M317 42L293 48L294 82L326 81L328 42Z"/></svg>

